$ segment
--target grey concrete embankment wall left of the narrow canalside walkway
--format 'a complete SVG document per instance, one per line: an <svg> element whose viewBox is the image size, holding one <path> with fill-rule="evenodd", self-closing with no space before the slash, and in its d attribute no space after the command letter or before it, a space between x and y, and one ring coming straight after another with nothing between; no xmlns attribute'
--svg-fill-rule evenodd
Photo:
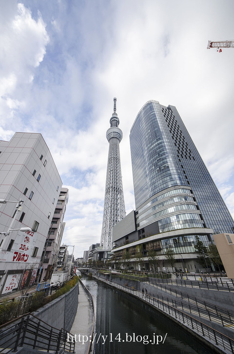
<svg viewBox="0 0 234 354"><path fill-rule="evenodd" d="M50 326L58 329L64 328L69 332L77 314L78 293L79 285L77 283L69 292L59 296L33 314Z"/></svg>

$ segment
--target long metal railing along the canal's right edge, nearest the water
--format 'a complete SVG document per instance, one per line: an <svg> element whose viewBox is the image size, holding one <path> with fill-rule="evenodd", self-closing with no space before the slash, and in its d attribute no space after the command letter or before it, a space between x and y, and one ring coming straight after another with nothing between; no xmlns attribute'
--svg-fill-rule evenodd
<svg viewBox="0 0 234 354"><path fill-rule="evenodd" d="M98 279L97 276L94 276ZM100 278L101 279L101 278ZM101 279L102 281L104 279ZM191 315L176 309L170 304L164 303L162 300L155 298L149 294L145 294L139 292L138 290L129 288L126 285L118 284L110 280L105 280L106 284L109 284L117 289L123 290L125 292L131 293L132 295L140 298L149 304L155 306L162 312L168 313L171 317L176 319L179 323L182 323L186 327L190 328L191 330L195 331L195 333L201 335L206 341L207 344L212 343L218 346L219 349L224 351L225 354L232 353L234 354L234 340L227 335L216 331L214 328L202 323L201 321L197 320L196 318L192 317Z"/></svg>

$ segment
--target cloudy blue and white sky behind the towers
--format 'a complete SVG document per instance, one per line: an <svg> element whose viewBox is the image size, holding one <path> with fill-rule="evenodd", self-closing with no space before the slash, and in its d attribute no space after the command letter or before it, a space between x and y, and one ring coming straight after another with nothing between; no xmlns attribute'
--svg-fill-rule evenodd
<svg viewBox="0 0 234 354"><path fill-rule="evenodd" d="M117 97L124 198L129 134L148 100L175 105L234 215L233 0L0 0L0 139L41 133L69 188L63 243L100 241Z"/></svg>

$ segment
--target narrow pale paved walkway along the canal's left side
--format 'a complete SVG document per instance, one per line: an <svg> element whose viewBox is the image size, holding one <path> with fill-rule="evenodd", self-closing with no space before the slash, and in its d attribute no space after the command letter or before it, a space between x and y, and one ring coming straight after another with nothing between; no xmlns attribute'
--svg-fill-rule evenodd
<svg viewBox="0 0 234 354"><path fill-rule="evenodd" d="M74 336L76 354L85 354L90 343L93 310L89 299L79 284L78 309L70 333Z"/></svg>

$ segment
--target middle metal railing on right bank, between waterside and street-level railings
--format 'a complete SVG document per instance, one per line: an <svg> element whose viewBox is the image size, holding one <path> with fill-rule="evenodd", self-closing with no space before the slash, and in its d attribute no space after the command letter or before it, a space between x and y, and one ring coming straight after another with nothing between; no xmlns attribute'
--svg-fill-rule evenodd
<svg viewBox="0 0 234 354"><path fill-rule="evenodd" d="M230 323L234 324L234 317L230 314L230 312L227 309L224 309L220 306L213 305L207 301L197 299L194 296L188 295L187 293L184 292L180 292L176 289L172 289L170 287L167 287L164 284L157 283L157 282L155 283L151 281L149 281L149 283L153 287L156 287L157 289L160 289L163 292L168 292L173 296L179 297L182 300L188 301L191 304L196 304L197 307L199 306L205 309L208 312L208 316L209 316L209 312L211 311L212 313L215 313L216 316L219 316L221 321L230 321Z"/></svg>

